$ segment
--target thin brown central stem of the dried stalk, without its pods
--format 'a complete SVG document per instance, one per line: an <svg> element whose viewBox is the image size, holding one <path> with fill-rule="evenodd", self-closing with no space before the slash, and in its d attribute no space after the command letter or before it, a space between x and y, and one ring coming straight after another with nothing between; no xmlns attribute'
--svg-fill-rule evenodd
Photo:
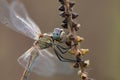
<svg viewBox="0 0 120 80"><path fill-rule="evenodd" d="M74 50L75 50L75 56L76 59L79 59L81 61L76 62L76 64L79 64L79 68L80 68L80 78L82 80L90 80L86 74L86 68L83 65L83 60L81 59L81 51L79 49L79 45L78 45L78 41L76 40L76 31L75 28L73 27L73 19L72 19L72 10L70 7L70 0L63 0L64 1L64 8L65 8L65 13L66 13L66 17L67 18L67 28L69 29L70 35L72 37L72 42L74 44Z"/></svg>

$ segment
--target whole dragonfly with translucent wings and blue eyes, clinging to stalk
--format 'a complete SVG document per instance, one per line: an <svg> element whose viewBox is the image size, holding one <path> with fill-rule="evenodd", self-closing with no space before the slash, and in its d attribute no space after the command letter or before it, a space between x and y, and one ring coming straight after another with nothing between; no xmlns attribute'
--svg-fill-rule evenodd
<svg viewBox="0 0 120 80"><path fill-rule="evenodd" d="M63 30L55 28L52 34L42 34L40 28L29 17L21 1L12 0L10 4L7 0L0 0L0 23L35 40L33 46L18 58L20 65L25 68L21 80L27 80L30 72L41 76L73 72L69 63L63 62L75 62L76 60L66 59L60 55L66 53L69 48L54 43L54 40L59 41ZM48 51L49 47L53 48L56 55Z"/></svg>

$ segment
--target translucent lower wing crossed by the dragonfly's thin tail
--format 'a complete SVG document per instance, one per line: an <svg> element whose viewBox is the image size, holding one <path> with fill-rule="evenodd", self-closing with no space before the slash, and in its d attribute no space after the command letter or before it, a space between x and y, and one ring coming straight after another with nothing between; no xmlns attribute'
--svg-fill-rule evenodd
<svg viewBox="0 0 120 80"><path fill-rule="evenodd" d="M25 68L29 63L29 59L31 54L34 52L38 52L39 55L34 60L34 63L31 66L31 71L41 75L41 76L51 76L55 73L54 70L54 61L47 57L43 50L38 51L38 49L32 47L27 52L25 52L22 56L18 58L18 62Z"/></svg>

